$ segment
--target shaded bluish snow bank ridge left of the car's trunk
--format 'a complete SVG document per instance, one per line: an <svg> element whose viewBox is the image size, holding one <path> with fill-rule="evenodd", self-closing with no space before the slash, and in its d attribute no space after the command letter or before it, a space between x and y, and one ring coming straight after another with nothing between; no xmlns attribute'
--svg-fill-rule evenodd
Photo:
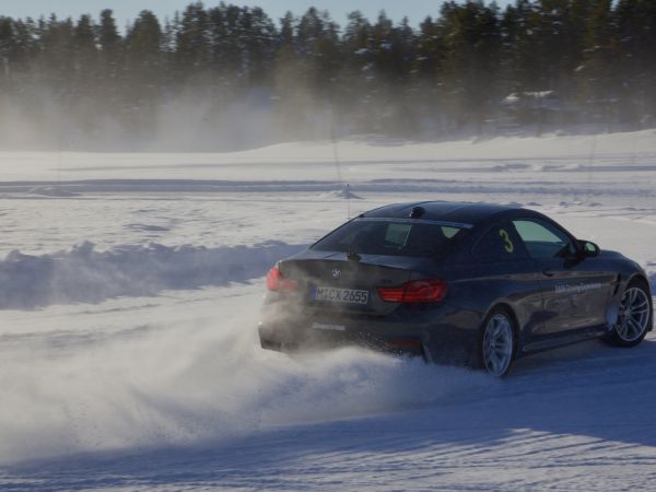
<svg viewBox="0 0 656 492"><path fill-rule="evenodd" d="M155 295L169 289L224 285L261 277L303 246L269 242L251 247L148 247L96 251L85 242L69 251L32 256L14 250L0 261L0 308L34 308L109 297Z"/></svg>

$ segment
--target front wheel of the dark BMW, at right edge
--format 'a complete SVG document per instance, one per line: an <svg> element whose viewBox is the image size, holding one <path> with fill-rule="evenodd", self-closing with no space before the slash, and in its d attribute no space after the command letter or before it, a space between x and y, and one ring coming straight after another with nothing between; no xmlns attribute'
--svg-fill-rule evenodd
<svg viewBox="0 0 656 492"><path fill-rule="evenodd" d="M618 321L605 340L613 347L635 347L647 335L653 316L647 283L641 279L632 280L622 294Z"/></svg>

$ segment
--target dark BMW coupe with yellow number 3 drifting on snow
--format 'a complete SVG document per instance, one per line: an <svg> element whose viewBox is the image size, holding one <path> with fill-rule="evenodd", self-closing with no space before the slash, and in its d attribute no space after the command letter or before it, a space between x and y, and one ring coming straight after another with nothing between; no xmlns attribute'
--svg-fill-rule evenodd
<svg viewBox="0 0 656 492"><path fill-rule="evenodd" d="M361 344L504 376L517 358L653 328L644 270L512 206L418 202L363 213L267 277L262 348Z"/></svg>

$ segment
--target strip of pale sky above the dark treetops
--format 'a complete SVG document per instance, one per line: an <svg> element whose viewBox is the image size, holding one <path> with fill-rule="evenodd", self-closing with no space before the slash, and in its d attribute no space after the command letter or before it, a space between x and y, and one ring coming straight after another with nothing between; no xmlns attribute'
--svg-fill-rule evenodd
<svg viewBox="0 0 656 492"><path fill-rule="evenodd" d="M508 1L497 0L497 4L503 7ZM173 16L176 10L183 10L189 3L190 0L0 0L0 15L38 17L55 12L60 17L78 17L82 13L91 13L97 19L101 10L112 9L118 25L124 27L127 21L133 20L141 10L152 10L163 20ZM218 4L219 0L203 3L206 7L212 7ZM261 7L276 21L288 10L301 14L314 5L328 10L340 25L345 23L347 13L353 10L362 11L371 20L376 17L378 11L385 10L395 21L400 21L407 15L410 22L417 25L429 14L436 16L442 5L441 0L232 0L226 3Z"/></svg>

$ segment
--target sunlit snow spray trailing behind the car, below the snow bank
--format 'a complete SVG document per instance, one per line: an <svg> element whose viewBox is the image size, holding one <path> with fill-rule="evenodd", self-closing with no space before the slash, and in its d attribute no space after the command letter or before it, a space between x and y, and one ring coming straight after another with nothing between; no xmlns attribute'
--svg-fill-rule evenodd
<svg viewBox="0 0 656 492"><path fill-rule="evenodd" d="M212 445L278 425L440 405L495 384L359 349L263 352L251 328L260 289L50 306L46 331L28 331L24 312L5 312L0 460Z"/></svg>

